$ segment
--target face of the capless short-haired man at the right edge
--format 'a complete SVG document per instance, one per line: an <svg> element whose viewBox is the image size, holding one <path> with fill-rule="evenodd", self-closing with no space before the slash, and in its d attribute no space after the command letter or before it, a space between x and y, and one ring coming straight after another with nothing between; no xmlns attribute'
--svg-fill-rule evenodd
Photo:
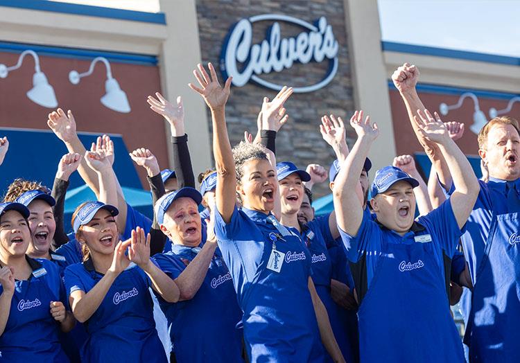
<svg viewBox="0 0 520 363"><path fill-rule="evenodd" d="M478 150L490 177L515 180L520 177L520 136L513 125L496 123L488 134L485 148Z"/></svg>

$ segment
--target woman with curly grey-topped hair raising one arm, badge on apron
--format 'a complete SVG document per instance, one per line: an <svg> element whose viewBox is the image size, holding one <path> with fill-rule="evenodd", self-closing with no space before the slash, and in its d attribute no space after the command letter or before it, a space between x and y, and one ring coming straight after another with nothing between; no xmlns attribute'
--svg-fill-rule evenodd
<svg viewBox="0 0 520 363"><path fill-rule="evenodd" d="M215 233L243 310L250 361L324 362L323 342L333 360L343 362L311 279L311 257L300 236L271 213L279 202L276 169L259 146L241 144L233 157L225 123L231 78L222 88L211 64L209 71L211 78L199 64L194 74L200 88L189 86L211 109L217 170ZM287 92L286 96L292 89ZM236 193L241 210L236 208Z"/></svg>

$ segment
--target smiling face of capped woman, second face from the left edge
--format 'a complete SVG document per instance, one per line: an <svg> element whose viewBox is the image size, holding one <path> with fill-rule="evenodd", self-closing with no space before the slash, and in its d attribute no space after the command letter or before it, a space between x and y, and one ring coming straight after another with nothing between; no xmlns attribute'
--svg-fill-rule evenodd
<svg viewBox="0 0 520 363"><path fill-rule="evenodd" d="M33 200L28 205L31 212L29 215L29 228L33 236L33 242L29 247L28 253L45 256L49 253L51 242L56 230L53 210L51 206L43 200Z"/></svg>

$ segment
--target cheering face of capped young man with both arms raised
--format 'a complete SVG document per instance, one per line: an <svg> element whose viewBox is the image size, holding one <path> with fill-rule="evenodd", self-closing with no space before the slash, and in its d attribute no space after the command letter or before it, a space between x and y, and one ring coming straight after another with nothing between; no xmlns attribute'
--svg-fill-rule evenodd
<svg viewBox="0 0 520 363"><path fill-rule="evenodd" d="M415 195L410 183L401 180L387 191L374 197L370 203L377 220L388 229L403 235L408 232L415 216Z"/></svg>

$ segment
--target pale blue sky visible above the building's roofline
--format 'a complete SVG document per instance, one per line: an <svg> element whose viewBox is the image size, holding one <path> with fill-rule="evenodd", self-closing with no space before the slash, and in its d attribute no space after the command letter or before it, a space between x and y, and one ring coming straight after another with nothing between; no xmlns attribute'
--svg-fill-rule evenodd
<svg viewBox="0 0 520 363"><path fill-rule="evenodd" d="M159 11L159 0L55 1ZM520 57L520 0L377 2L385 41Z"/></svg>

